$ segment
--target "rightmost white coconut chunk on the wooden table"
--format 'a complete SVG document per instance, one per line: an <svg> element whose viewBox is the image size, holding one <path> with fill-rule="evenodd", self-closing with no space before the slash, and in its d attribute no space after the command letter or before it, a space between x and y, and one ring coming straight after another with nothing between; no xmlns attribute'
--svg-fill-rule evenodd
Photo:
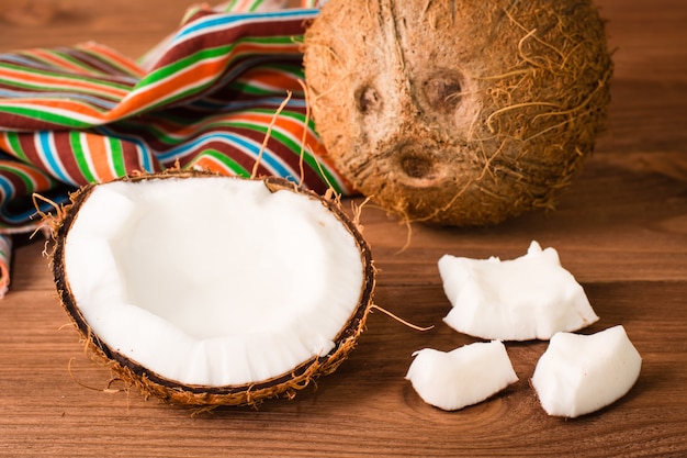
<svg viewBox="0 0 687 458"><path fill-rule="evenodd" d="M626 395L641 367L621 325L593 335L558 333L537 362L532 387L549 415L576 417Z"/></svg>

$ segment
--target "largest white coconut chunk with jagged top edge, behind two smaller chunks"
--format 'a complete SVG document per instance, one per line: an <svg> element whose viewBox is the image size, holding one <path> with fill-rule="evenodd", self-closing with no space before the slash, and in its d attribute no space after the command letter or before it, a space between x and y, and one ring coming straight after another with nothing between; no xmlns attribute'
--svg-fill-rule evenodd
<svg viewBox="0 0 687 458"><path fill-rule="evenodd" d="M549 339L596 322L582 286L561 266L554 248L532 242L527 254L502 261L444 255L439 260L452 304L444 322L485 339Z"/></svg>

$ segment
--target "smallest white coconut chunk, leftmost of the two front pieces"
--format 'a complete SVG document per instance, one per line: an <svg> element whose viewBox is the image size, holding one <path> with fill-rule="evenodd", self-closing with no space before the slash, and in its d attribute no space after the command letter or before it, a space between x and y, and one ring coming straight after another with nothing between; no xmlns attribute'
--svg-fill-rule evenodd
<svg viewBox="0 0 687 458"><path fill-rule="evenodd" d="M425 348L413 356L406 379L426 403L446 411L482 402L518 381L499 340L478 342L448 353Z"/></svg>

